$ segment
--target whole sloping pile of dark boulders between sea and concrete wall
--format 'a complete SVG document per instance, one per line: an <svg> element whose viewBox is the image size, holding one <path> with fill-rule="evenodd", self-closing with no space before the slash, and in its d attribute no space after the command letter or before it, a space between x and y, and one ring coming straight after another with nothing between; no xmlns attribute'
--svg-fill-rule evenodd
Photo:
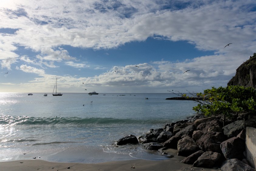
<svg viewBox="0 0 256 171"><path fill-rule="evenodd" d="M181 162L195 167L221 168L221 170L250 170L245 159L246 127L256 128L254 114L233 114L223 126L223 116L195 115L186 120L167 123L163 128L150 129L145 135L129 135L118 140L117 145L144 144L145 149L177 149ZM131 142L129 141L131 140Z"/></svg>

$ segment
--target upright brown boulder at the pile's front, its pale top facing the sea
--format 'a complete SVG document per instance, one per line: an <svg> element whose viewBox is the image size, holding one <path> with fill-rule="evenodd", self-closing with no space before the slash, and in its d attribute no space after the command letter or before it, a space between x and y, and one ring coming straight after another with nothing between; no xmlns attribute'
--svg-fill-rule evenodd
<svg viewBox="0 0 256 171"><path fill-rule="evenodd" d="M178 156L189 156L199 150L196 142L189 136L180 139L177 144Z"/></svg>

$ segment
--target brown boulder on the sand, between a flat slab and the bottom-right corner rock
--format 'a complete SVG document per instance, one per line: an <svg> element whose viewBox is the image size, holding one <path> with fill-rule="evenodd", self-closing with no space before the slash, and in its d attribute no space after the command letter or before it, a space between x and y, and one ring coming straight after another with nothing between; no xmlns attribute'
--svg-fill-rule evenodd
<svg viewBox="0 0 256 171"><path fill-rule="evenodd" d="M207 151L203 153L193 164L194 167L212 168L218 164L221 154L217 152Z"/></svg>

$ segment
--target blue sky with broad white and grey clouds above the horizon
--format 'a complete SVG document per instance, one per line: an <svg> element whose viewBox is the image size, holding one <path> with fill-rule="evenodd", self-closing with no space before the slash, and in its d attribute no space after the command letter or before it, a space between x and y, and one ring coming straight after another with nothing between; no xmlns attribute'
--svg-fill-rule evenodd
<svg viewBox="0 0 256 171"><path fill-rule="evenodd" d="M255 35L255 0L1 0L0 92L203 92Z"/></svg>

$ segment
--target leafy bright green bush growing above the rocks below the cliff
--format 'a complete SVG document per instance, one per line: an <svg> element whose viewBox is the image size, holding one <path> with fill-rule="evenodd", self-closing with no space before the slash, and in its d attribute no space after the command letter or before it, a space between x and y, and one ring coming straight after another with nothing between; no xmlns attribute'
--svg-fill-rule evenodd
<svg viewBox="0 0 256 171"><path fill-rule="evenodd" d="M196 112L205 116L223 114L227 117L233 112L255 112L256 91L251 87L230 85L204 90L204 93L197 93L202 100L193 107Z"/></svg>

